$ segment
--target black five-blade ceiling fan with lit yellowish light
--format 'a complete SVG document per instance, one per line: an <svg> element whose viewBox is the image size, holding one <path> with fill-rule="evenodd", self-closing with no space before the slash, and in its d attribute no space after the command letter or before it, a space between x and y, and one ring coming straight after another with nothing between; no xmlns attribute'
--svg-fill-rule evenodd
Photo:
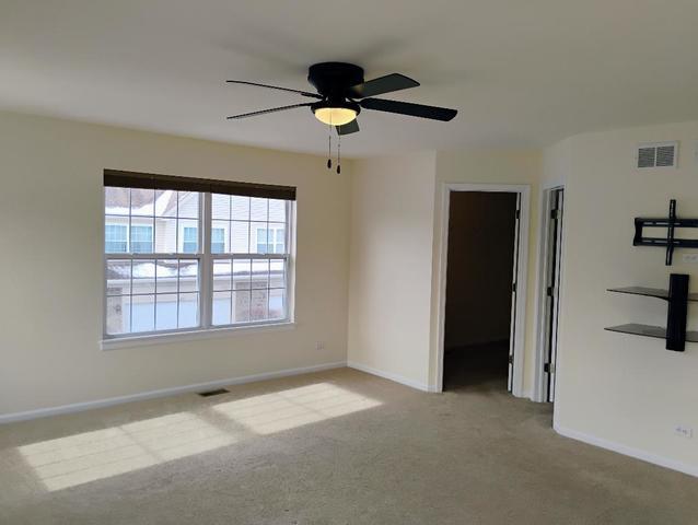
<svg viewBox="0 0 698 525"><path fill-rule="evenodd" d="M310 107L315 118L328 126L334 126L339 136L356 133L359 131L357 116L361 109L396 113L410 117L430 118L432 120L451 120L457 110L445 107L424 106L408 102L387 101L373 98L375 95L392 93L394 91L417 88L419 82L399 73L386 74L377 79L364 81L363 69L353 63L321 62L310 67L307 81L317 90L317 93L291 90L276 85L246 82L243 80L229 80L233 84L256 85L271 90L296 93L299 95L316 98L316 102L291 104L289 106L261 109L259 112L233 115L229 119L239 119L266 115L268 113L284 112L298 107Z"/></svg>

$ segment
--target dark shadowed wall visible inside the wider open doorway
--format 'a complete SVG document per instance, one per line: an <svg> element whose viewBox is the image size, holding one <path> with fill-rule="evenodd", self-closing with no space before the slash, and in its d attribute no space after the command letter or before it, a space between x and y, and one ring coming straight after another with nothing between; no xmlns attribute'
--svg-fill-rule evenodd
<svg viewBox="0 0 698 525"><path fill-rule="evenodd" d="M446 350L509 339L515 211L516 194L451 194Z"/></svg>

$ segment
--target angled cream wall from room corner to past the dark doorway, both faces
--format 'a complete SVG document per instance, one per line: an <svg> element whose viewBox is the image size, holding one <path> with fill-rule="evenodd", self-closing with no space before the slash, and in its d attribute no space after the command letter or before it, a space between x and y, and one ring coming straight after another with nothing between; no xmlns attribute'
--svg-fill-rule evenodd
<svg viewBox="0 0 698 525"><path fill-rule="evenodd" d="M443 184L528 184L533 221L540 171L542 154L532 150L426 152L354 164L350 363L437 389ZM524 395L533 384L535 237L532 229Z"/></svg>

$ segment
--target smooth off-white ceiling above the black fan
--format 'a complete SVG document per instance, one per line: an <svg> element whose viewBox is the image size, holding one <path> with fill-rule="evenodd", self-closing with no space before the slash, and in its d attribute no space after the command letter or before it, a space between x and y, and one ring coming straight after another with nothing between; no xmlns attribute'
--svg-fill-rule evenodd
<svg viewBox="0 0 698 525"><path fill-rule="evenodd" d="M696 0L0 0L0 108L323 153L309 65L400 72L396 100L451 122L364 112L342 153L543 145L698 118ZM386 97L389 97L386 95Z"/></svg>

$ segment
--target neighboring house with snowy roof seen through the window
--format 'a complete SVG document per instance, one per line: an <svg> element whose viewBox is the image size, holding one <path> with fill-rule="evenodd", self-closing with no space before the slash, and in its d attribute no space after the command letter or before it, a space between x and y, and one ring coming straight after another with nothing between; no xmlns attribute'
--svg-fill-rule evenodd
<svg viewBox="0 0 698 525"><path fill-rule="evenodd" d="M199 325L200 194L167 190L152 196L152 190L131 191L129 210L128 190L112 188L105 202L107 334ZM246 210L228 209L228 199L212 202L211 253L221 254L212 271L212 324L217 326L286 316L284 262L252 255L286 250L286 223L281 222L286 215L270 209L269 219L279 222L251 221L255 211L260 212L255 203L261 203L248 198L240 201L248 203ZM267 210L263 211L266 217ZM131 261L117 259L118 254L159 257ZM164 254L176 254L176 258L160 258ZM226 257L230 254L251 257L232 260Z"/></svg>

